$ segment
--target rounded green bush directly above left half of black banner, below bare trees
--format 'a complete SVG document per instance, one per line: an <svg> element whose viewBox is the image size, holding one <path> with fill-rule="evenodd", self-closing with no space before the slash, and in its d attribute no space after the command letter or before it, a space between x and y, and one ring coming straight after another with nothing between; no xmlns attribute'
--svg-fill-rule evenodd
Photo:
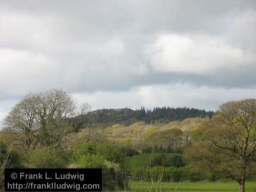
<svg viewBox="0 0 256 192"><path fill-rule="evenodd" d="M47 147L37 148L25 156L28 168L63 168L65 162Z"/></svg>

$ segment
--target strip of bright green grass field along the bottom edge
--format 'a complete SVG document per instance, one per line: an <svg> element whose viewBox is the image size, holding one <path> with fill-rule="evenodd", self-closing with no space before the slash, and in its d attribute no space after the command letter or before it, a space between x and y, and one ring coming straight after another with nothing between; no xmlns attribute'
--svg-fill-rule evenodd
<svg viewBox="0 0 256 192"><path fill-rule="evenodd" d="M237 192L238 184L236 182L181 182L179 183L159 183L156 190L156 183L151 182L131 182L130 186L134 188L133 191L182 191L182 192ZM152 190L151 190L152 187ZM176 189L177 187L177 189ZM246 182L246 192L256 192L256 182Z"/></svg>

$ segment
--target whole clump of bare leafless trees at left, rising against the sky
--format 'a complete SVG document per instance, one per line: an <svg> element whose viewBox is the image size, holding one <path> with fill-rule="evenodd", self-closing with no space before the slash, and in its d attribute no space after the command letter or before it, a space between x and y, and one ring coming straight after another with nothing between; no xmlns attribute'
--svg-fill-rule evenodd
<svg viewBox="0 0 256 192"><path fill-rule="evenodd" d="M52 89L44 93L29 94L4 119L4 129L20 134L30 148L40 143L58 147L69 131L70 117L77 115L76 102L66 92Z"/></svg>

